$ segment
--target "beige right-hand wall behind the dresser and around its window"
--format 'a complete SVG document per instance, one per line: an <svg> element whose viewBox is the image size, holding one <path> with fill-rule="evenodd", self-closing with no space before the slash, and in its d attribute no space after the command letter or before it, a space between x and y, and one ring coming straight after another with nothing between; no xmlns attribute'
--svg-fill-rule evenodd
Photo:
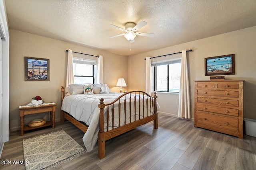
<svg viewBox="0 0 256 170"><path fill-rule="evenodd" d="M128 64L129 90L145 90L146 61L144 58L176 53L182 51L182 49L193 50L187 53L193 119L194 80L210 80L210 76L204 76L204 58L228 54L235 54L235 74L225 75L225 78L245 80L244 117L256 119L256 26L130 56ZM164 60L167 57L161 58ZM139 73L135 68L139 68ZM160 92L157 95L160 104L159 113L177 116L178 95Z"/></svg>

